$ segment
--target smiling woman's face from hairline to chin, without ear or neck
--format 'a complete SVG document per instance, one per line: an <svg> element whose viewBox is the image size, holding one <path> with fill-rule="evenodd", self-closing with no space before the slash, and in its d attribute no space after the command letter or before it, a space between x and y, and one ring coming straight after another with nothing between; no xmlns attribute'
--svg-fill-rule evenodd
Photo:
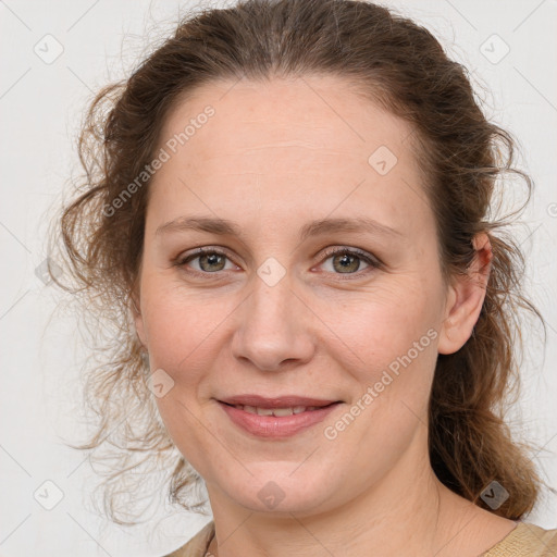
<svg viewBox="0 0 557 557"><path fill-rule="evenodd" d="M313 512L429 466L454 298L410 134L334 77L206 85L169 116L136 325L212 498ZM243 395L339 403L277 417L222 403Z"/></svg>

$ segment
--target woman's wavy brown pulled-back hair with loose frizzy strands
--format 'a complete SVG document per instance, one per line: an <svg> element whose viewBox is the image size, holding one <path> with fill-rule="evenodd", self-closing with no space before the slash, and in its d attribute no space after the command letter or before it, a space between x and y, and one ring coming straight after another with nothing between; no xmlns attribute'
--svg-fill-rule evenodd
<svg viewBox="0 0 557 557"><path fill-rule="evenodd" d="M472 239L488 235L493 260L478 322L462 348L437 358L429 453L435 474L453 492L495 515L520 519L532 510L543 482L529 456L531 445L511 438L504 410L510 395L518 396L519 315L524 310L540 319L544 332L545 323L521 292L524 256L506 232L519 211L497 220L491 212L496 186L507 185L508 177L527 185L527 202L533 184L515 166L511 134L483 114L467 70L424 27L369 2L249 0L206 9L184 18L127 79L103 88L91 102L78 143L85 175L55 222L61 238L54 243L71 278L62 283L52 273L59 286L86 302L98 320L95 333L103 333L84 391L96 430L75 448L113 447L109 454L116 465L103 485L104 508L117 523L136 523L121 516L119 484L141 466L153 470L158 463L169 472L172 503L195 511L206 503L186 497L202 480L160 420L131 312L150 180L125 202L115 200L152 161L170 111L196 88L223 79L308 75L345 79L411 124L409 145L435 214L445 281L467 274L475 256ZM117 207L116 214L107 207ZM95 459L95 451L90 456ZM509 494L497 509L481 498L494 480Z"/></svg>

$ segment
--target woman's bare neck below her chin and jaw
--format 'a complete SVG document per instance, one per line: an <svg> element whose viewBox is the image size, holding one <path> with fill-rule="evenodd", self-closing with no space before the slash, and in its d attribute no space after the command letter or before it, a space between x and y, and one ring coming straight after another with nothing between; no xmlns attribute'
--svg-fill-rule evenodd
<svg viewBox="0 0 557 557"><path fill-rule="evenodd" d="M470 522L469 515L474 515L474 510L485 511L455 495L437 480L426 455L420 458L412 450L426 444L423 438L416 441L381 482L342 506L322 512L296 510L278 516L250 511L208 482L215 524L210 554L216 557L283 557L285 554L322 557L325 553L352 557L458 555L457 548L466 547L470 541L470 528L468 532L463 528L465 522Z"/></svg>

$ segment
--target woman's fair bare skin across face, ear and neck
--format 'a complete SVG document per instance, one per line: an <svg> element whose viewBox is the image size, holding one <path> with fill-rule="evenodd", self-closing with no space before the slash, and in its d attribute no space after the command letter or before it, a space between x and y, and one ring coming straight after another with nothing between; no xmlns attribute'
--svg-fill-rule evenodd
<svg viewBox="0 0 557 557"><path fill-rule="evenodd" d="M214 116L150 185L135 322L151 371L174 382L157 404L206 480L218 542L210 550L471 557L492 547L516 523L447 490L426 437L437 354L458 350L480 314L487 237L474 240L469 280L445 284L410 125L337 77L205 85L171 112L161 146L207 104ZM386 175L368 163L380 146L398 159ZM194 214L234 221L242 236L156 234ZM308 221L356 215L396 234L297 237ZM199 246L224 250L225 265L173 264ZM343 273L338 258L323 256L327 247L360 248L381 265L356 258L360 267ZM257 273L268 258L286 271L272 286ZM429 346L326 438L324 429L429 330L436 333ZM245 393L344 403L293 437L262 440L236 428L215 400ZM272 509L258 497L270 481L284 494Z"/></svg>

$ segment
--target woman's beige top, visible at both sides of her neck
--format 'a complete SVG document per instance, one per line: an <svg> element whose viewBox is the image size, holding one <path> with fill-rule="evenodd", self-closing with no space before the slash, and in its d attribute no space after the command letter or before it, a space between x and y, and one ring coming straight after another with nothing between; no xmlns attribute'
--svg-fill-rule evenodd
<svg viewBox="0 0 557 557"><path fill-rule="evenodd" d="M165 557L206 557L214 536L214 522L205 525L186 545ZM207 554L211 557L212 554ZM500 542L479 557L557 557L557 529L544 530L535 524L518 522Z"/></svg>

